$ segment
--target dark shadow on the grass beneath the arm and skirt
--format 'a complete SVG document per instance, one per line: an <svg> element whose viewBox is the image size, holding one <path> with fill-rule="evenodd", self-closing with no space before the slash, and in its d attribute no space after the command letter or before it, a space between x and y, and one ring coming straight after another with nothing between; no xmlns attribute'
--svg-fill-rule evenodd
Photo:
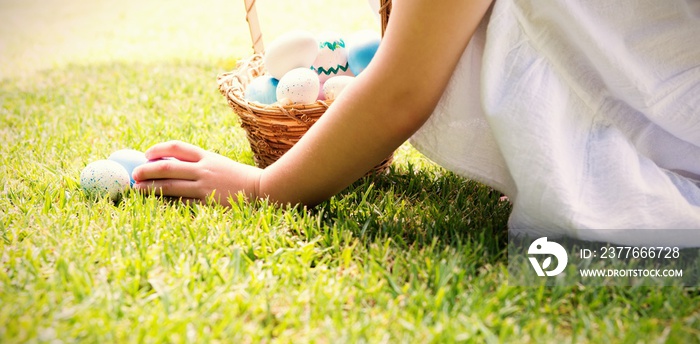
<svg viewBox="0 0 700 344"><path fill-rule="evenodd" d="M438 167L410 163L366 177L315 212L329 226L350 228L366 243L392 240L399 247L477 249L484 263L505 261L511 211L502 194Z"/></svg>

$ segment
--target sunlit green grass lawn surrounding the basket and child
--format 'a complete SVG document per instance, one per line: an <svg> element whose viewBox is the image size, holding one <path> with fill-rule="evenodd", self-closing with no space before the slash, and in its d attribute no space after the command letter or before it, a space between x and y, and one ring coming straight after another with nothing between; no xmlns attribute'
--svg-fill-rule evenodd
<svg viewBox="0 0 700 344"><path fill-rule="evenodd" d="M700 342L697 288L508 285L509 203L408 144L314 209L86 197L122 148L252 164L216 89L250 53L239 2L0 2L0 343ZM270 36L375 25L259 3Z"/></svg>

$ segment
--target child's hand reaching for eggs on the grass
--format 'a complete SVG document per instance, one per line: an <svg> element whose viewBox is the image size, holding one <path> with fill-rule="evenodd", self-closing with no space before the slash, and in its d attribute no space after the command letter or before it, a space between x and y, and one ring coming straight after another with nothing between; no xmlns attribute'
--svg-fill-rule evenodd
<svg viewBox="0 0 700 344"><path fill-rule="evenodd" d="M212 197L225 206L239 192L247 199L258 196L261 169L200 147L180 141L159 143L146 151L146 158L151 162L134 169L132 175L134 188L141 192L197 202Z"/></svg>

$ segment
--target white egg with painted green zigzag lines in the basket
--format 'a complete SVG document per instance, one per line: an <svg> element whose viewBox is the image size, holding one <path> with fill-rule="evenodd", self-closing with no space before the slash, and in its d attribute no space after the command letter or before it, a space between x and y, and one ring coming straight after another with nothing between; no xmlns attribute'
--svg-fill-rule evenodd
<svg viewBox="0 0 700 344"><path fill-rule="evenodd" d="M321 83L338 75L350 75L345 41L336 32L318 35L318 55L311 66Z"/></svg>

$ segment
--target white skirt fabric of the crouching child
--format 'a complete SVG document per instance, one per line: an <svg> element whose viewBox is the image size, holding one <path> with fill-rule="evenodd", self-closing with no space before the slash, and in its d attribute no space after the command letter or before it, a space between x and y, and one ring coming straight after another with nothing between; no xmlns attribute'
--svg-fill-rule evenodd
<svg viewBox="0 0 700 344"><path fill-rule="evenodd" d="M420 152L514 233L700 246L700 1L497 0Z"/></svg>

